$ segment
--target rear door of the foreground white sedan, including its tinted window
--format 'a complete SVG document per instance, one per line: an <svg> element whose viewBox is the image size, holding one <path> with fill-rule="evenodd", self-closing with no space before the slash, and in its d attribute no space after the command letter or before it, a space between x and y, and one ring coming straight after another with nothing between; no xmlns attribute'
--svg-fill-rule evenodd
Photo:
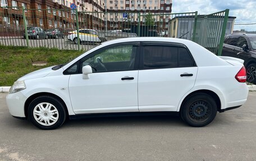
<svg viewBox="0 0 256 161"><path fill-rule="evenodd" d="M140 52L139 111L177 111L198 71L189 50L176 43L143 43Z"/></svg>

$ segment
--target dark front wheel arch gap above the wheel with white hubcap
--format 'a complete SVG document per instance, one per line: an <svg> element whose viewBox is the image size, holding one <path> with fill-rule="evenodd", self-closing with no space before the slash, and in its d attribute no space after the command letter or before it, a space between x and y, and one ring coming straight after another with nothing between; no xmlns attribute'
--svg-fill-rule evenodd
<svg viewBox="0 0 256 161"><path fill-rule="evenodd" d="M28 99L26 99L26 102L24 104L24 113L25 113L25 117L28 118L28 109L29 109L29 105L30 103L35 99L37 98L38 96L42 96L42 95L49 95L49 96L53 96L54 98L60 100L60 102L63 104L63 106L65 107L65 112L67 113L67 116L69 115L68 114L68 109L67 109L67 105L66 103L63 101L62 98L60 98L60 96L56 95L56 94L53 94L53 93L48 93L48 92L42 92L42 93L35 93L31 96L29 96ZM67 117L68 118L68 117Z"/></svg>

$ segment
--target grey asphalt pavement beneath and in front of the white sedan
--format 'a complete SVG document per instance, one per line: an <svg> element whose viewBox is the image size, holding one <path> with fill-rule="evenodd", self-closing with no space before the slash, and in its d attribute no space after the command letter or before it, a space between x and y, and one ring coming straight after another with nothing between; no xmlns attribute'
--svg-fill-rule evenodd
<svg viewBox="0 0 256 161"><path fill-rule="evenodd" d="M256 92L206 127L177 116L68 121L52 131L15 119L0 93L0 160L255 160Z"/></svg>

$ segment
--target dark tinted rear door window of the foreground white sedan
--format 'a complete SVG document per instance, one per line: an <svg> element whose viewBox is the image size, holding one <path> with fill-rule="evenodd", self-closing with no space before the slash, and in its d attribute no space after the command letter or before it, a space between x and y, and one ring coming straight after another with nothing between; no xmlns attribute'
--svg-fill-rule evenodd
<svg viewBox="0 0 256 161"><path fill-rule="evenodd" d="M193 67L188 49L168 46L145 46L143 69Z"/></svg>

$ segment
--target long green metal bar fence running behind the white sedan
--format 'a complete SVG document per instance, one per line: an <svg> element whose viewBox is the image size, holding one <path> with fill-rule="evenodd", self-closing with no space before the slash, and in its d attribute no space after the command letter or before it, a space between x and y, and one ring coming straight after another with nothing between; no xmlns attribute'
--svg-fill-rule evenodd
<svg viewBox="0 0 256 161"><path fill-rule="evenodd" d="M198 16L197 12L77 12L1 7L0 44L88 50L112 39L165 36L193 40L216 52L218 44L223 43L227 15L228 11Z"/></svg>

